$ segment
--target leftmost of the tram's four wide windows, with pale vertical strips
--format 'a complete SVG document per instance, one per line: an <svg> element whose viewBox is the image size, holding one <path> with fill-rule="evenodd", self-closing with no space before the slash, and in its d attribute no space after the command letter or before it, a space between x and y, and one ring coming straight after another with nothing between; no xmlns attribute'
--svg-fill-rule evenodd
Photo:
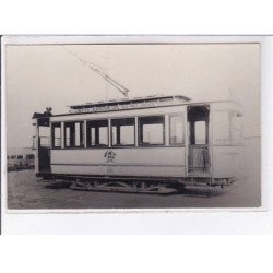
<svg viewBox="0 0 273 273"><path fill-rule="evenodd" d="M84 146L83 126L83 121L64 123L66 147Z"/></svg>

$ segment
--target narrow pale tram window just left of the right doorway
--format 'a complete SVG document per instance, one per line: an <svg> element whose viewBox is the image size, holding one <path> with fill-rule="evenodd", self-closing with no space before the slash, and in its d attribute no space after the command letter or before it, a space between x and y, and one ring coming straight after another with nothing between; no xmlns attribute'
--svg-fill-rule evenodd
<svg viewBox="0 0 273 273"><path fill-rule="evenodd" d="M169 143L171 145L183 144L183 117L169 117Z"/></svg>

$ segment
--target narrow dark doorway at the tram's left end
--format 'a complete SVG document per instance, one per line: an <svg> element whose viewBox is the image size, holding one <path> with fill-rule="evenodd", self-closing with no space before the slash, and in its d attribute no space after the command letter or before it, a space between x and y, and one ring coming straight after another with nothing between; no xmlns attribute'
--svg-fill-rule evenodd
<svg viewBox="0 0 273 273"><path fill-rule="evenodd" d="M50 127L48 118L38 120L36 138L38 152L38 171L50 173Z"/></svg>

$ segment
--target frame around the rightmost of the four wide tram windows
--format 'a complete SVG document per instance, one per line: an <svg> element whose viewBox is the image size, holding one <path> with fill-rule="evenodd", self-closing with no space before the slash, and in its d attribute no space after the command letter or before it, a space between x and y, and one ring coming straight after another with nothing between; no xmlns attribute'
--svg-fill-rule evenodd
<svg viewBox="0 0 273 273"><path fill-rule="evenodd" d="M143 124L141 124L141 119L147 119L147 118L162 118L163 123L146 123L146 124L163 124L163 143L159 144L144 144L143 143L143 130L142 127ZM166 122L165 122L165 115L152 115L152 116L140 116L138 117L138 140L139 143L138 145L141 147L151 147L151 146L166 146Z"/></svg>

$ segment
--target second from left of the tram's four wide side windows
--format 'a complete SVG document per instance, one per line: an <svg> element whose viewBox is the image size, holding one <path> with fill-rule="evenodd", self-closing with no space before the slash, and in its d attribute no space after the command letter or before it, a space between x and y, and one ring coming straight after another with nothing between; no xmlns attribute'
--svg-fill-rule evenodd
<svg viewBox="0 0 273 273"><path fill-rule="evenodd" d="M108 120L87 121L87 146L108 146Z"/></svg>

